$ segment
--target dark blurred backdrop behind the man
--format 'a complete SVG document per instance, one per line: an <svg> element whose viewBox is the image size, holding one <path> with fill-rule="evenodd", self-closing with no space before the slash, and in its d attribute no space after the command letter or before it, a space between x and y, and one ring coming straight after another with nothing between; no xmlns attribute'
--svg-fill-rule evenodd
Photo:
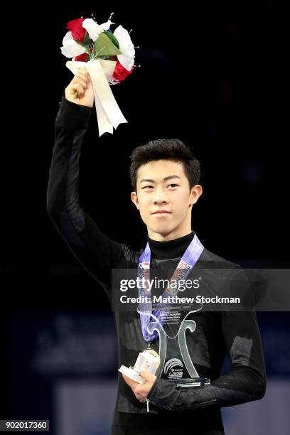
<svg viewBox="0 0 290 435"><path fill-rule="evenodd" d="M102 23L114 11L112 21L132 29L140 47L140 68L112 88L129 123L99 139L92 114L82 149L80 198L101 230L145 246L129 155L151 139L179 138L201 162L193 229L203 245L243 267L289 268L284 11L271 1L102 5L19 6L18 62L10 58L14 75L4 80L16 100L3 101L11 160L1 170L0 417L50 419L53 435L109 434L118 368L104 291L45 210L55 115L72 79L60 53L68 21L94 14ZM223 410L229 435L289 433L289 313L257 316L267 394Z"/></svg>

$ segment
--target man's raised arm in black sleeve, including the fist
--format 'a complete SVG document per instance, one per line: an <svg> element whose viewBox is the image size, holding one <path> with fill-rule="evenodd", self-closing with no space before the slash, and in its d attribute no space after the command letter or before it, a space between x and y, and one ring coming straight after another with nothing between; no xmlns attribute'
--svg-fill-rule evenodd
<svg viewBox="0 0 290 435"><path fill-rule="evenodd" d="M125 245L110 240L100 231L80 203L77 190L80 152L93 102L90 76L80 71L65 88L55 120L47 210L75 257L107 291L111 269L122 257Z"/></svg>

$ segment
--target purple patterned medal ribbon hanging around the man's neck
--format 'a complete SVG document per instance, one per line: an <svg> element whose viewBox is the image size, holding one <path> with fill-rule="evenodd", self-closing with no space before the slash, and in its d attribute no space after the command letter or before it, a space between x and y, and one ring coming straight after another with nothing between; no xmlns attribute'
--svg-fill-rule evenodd
<svg viewBox="0 0 290 435"><path fill-rule="evenodd" d="M176 267L175 272L171 276L170 281L181 281L186 279L186 276L188 276L189 272L193 267L195 266L195 263L198 261L201 253L203 252L203 245L200 243L200 240L198 240L198 236L194 235L193 240L190 242L190 245L188 245L188 248L186 249L186 252L184 252L183 257L181 258L180 262L178 263L178 266ZM146 248L144 249L144 252L139 257L139 268L138 268L138 274L139 274L139 283L148 282L150 280L150 259L151 259L151 251L149 247L149 243L147 243ZM168 296L176 296L178 294L178 285L176 286L176 289L168 288L163 291L162 298L168 297ZM140 312L140 320L141 320L141 328L144 340L147 342L154 341L156 338L158 338L157 331L153 331L153 333L148 332L148 326L151 321L152 315L154 318L156 318L161 324L163 323L164 319L166 318L168 314L168 304L162 306L162 304L159 304L157 308L152 313L152 301L151 301L151 290L148 288L148 286L138 286L138 292L139 296L141 296L141 301L143 300L142 296L146 296L146 302L139 304L139 312ZM170 309L170 306L169 306ZM162 313L162 316L161 316ZM155 320L155 319L154 319ZM155 320L156 321L156 320Z"/></svg>

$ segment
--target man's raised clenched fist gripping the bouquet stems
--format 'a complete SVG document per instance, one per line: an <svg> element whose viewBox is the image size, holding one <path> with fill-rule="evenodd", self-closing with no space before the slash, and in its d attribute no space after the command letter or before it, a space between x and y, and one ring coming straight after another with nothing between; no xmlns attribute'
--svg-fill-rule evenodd
<svg viewBox="0 0 290 435"><path fill-rule="evenodd" d="M77 97L75 97L76 91ZM65 98L82 106L93 106L94 91L92 90L92 82L86 68L78 70L68 87L65 88Z"/></svg>

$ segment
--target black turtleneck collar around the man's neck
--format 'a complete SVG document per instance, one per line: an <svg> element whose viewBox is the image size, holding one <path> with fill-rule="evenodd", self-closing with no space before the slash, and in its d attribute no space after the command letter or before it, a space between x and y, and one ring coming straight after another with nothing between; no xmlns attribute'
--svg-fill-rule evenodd
<svg viewBox="0 0 290 435"><path fill-rule="evenodd" d="M151 257L155 259L182 257L191 240L193 240L193 237L194 231L191 231L183 237L178 237L178 239L168 240L168 242L158 242L157 240L150 239L147 235L147 240L151 249Z"/></svg>

